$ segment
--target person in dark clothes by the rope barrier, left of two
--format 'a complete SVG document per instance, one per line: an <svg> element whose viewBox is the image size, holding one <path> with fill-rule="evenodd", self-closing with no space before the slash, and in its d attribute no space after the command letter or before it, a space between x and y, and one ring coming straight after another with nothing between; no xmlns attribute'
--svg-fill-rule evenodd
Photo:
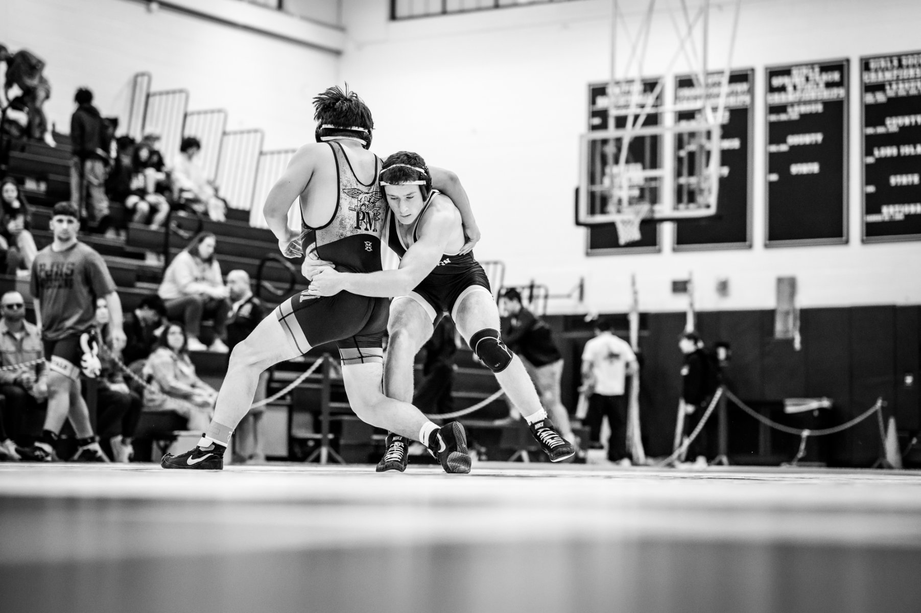
<svg viewBox="0 0 921 613"><path fill-rule="evenodd" d="M704 341L696 332L685 332L678 341L678 346L684 353L682 365L682 405L684 408L684 433L689 436L704 416L707 404L717 391L712 372L714 365L710 356L704 349ZM714 457L710 449L712 439L711 431L716 427L717 420L707 420L700 434L688 447L688 457L694 457L696 465L706 466L706 458Z"/></svg>

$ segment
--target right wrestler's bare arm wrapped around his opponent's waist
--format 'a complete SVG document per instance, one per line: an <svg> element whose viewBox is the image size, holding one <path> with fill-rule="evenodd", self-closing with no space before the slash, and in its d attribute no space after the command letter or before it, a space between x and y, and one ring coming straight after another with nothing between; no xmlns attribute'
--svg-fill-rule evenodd
<svg viewBox="0 0 921 613"><path fill-rule="evenodd" d="M426 215L425 226L420 228L419 239L406 249L395 271L336 272L325 268L314 275L310 295L335 295L351 292L357 295L391 297L407 295L438 265L438 260L449 243L454 212L432 211Z"/></svg>

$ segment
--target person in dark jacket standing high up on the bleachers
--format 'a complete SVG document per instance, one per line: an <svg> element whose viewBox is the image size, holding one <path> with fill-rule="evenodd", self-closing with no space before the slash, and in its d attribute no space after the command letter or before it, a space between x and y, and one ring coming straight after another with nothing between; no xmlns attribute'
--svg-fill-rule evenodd
<svg viewBox="0 0 921 613"><path fill-rule="evenodd" d="M74 101L77 107L70 118L74 152L70 168L70 202L87 217L90 227L96 227L109 214L105 188L109 162L109 144L105 142L107 128L99 110L93 106L93 92L80 87ZM85 203L87 194L89 200Z"/></svg>

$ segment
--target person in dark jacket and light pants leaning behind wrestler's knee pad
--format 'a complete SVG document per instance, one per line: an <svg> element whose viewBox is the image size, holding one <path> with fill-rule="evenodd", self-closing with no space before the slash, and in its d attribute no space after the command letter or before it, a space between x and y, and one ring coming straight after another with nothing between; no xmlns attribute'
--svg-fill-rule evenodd
<svg viewBox="0 0 921 613"><path fill-rule="evenodd" d="M519 291L511 288L502 295L502 311L506 313L502 338L509 349L518 353L525 365L544 411L570 443L576 437L569 425L569 413L560 400L563 377L563 354L554 343L550 326L521 304Z"/></svg>

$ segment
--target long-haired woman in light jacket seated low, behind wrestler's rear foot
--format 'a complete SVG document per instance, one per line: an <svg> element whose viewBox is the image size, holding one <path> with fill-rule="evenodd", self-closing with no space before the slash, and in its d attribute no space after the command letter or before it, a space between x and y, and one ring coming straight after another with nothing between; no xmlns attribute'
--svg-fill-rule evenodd
<svg viewBox="0 0 921 613"><path fill-rule="evenodd" d="M173 411L189 420L188 430L204 431L211 422L217 391L195 374L189 359L185 330L169 323L160 334L157 350L144 366L148 387L145 411Z"/></svg>

